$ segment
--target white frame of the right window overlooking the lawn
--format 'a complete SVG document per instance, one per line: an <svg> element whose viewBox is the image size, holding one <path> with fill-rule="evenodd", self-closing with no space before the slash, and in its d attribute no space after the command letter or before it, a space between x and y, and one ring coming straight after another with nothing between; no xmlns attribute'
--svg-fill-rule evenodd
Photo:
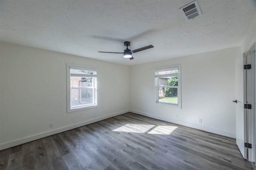
<svg viewBox="0 0 256 170"><path fill-rule="evenodd" d="M154 103L155 104L159 104L159 105L170 105L170 106L174 106L174 107L178 107L181 109L181 69L180 69L180 64L178 65L170 65L170 66L166 66L166 67L156 67L154 68ZM174 69L178 69L178 73L171 73L171 74L164 74L164 75L156 75L156 72L158 71L169 71L169 70L174 70ZM178 86L164 86L165 88L177 88L178 89L178 104L174 104L174 103L165 103L165 102L159 102L159 92L158 92L158 88L159 86L159 82L158 79L161 77L172 77L172 76L178 76Z"/></svg>

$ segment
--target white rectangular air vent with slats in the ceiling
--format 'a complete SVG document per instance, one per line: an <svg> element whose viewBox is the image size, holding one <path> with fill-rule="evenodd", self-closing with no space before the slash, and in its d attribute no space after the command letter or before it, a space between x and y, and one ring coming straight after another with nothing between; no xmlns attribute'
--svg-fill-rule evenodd
<svg viewBox="0 0 256 170"><path fill-rule="evenodd" d="M186 18L186 20L191 20L196 18L197 16L202 15L197 0L180 8L180 12Z"/></svg>

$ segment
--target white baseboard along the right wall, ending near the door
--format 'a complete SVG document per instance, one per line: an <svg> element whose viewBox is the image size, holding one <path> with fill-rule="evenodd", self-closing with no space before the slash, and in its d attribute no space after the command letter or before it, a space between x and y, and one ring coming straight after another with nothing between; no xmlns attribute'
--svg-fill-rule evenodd
<svg viewBox="0 0 256 170"><path fill-rule="evenodd" d="M236 138L236 133L228 132L228 131L225 131L225 130L210 128L210 127L204 127L204 126L195 125L195 124L192 124L192 123L177 121L177 120L174 120L174 119L161 117L161 116L157 116L157 115L152 115L152 114L149 114L149 113L144 113L144 112L135 111L135 110L130 110L130 112L136 113L136 114L139 114L139 115L143 115L143 116L146 116L146 117L151 117L151 118L154 118L154 119L159 119L159 120L162 120L162 121L167 121L167 122L170 122L170 123L175 123L175 124L186 126L186 127L196 128L196 129L199 129L199 130L204 130L204 131L207 131L207 132L220 134L220 135L223 135L223 136Z"/></svg>

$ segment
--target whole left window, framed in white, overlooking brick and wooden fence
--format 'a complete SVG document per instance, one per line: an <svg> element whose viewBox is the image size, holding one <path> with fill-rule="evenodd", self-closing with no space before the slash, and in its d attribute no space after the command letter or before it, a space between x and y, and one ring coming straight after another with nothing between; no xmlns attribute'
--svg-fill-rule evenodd
<svg viewBox="0 0 256 170"><path fill-rule="evenodd" d="M97 69L67 64L68 112L97 107Z"/></svg>

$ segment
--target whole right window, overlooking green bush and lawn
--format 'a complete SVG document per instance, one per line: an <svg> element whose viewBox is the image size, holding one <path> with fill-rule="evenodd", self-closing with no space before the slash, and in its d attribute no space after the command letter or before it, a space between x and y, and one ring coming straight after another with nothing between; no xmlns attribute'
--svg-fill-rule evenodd
<svg viewBox="0 0 256 170"><path fill-rule="evenodd" d="M156 103L181 108L180 65L154 69Z"/></svg>

